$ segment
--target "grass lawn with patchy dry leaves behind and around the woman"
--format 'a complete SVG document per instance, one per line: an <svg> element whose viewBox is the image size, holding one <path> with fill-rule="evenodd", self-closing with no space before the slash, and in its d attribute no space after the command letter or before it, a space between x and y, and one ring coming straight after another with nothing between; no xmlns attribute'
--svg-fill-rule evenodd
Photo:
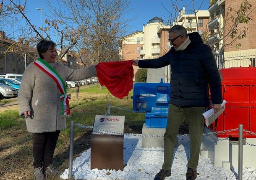
<svg viewBox="0 0 256 180"><path fill-rule="evenodd" d="M71 94L71 114L68 128L61 131L55 149L53 164L62 173L68 168L70 122L92 125L95 115L105 114L108 103L113 106L133 109L131 99L117 99L105 87L98 84L82 86L79 100L75 98L76 88L68 89ZM8 102L7 102L8 103ZM141 133L144 113L131 113L111 108L111 115L125 115L125 133ZM24 117L18 116L18 109L5 110L0 114L0 180L32 180L33 157L32 136L26 131ZM90 129L75 127L74 158L90 148ZM59 180L59 176L49 176L47 180Z"/></svg>

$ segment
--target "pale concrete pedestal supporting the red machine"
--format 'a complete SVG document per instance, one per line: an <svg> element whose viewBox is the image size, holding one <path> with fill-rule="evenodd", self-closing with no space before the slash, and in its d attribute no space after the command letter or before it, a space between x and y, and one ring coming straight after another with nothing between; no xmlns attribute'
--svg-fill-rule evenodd
<svg viewBox="0 0 256 180"><path fill-rule="evenodd" d="M208 127L204 132L211 132ZM256 168L256 138L244 138L243 167ZM202 136L201 156L210 158L214 167L238 168L238 141L218 138L216 134Z"/></svg>

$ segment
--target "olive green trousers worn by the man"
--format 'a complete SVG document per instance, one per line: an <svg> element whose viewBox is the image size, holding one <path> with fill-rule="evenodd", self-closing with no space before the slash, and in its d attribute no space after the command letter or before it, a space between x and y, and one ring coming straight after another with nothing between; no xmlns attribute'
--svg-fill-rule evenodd
<svg viewBox="0 0 256 180"><path fill-rule="evenodd" d="M199 160L201 137L204 131L204 119L202 114L205 107L189 107L179 108L170 104L167 126L164 135L164 164L163 170L170 170L173 158L175 139L179 132L180 125L185 118L188 121L189 137L190 137L190 157L188 167L196 169Z"/></svg>

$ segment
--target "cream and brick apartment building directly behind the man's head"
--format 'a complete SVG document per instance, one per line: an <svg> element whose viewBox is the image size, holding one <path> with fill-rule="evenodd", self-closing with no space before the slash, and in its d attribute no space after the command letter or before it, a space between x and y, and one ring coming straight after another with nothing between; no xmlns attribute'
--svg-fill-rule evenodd
<svg viewBox="0 0 256 180"><path fill-rule="evenodd" d="M197 31L200 35L202 35L208 29L208 22L208 10L196 10L195 13L192 10L185 10L185 6L183 6L183 8L179 11L178 17L173 25L183 25L188 30L188 33Z"/></svg>

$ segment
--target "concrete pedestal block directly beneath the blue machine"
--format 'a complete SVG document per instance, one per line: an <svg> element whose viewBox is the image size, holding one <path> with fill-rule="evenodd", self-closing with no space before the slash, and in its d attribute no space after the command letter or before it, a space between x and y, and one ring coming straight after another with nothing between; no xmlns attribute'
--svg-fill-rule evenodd
<svg viewBox="0 0 256 180"><path fill-rule="evenodd" d="M162 137L142 137L141 147L164 147L165 128L152 128L143 124L142 135L162 135ZM178 147L178 137L175 142L175 147Z"/></svg>

